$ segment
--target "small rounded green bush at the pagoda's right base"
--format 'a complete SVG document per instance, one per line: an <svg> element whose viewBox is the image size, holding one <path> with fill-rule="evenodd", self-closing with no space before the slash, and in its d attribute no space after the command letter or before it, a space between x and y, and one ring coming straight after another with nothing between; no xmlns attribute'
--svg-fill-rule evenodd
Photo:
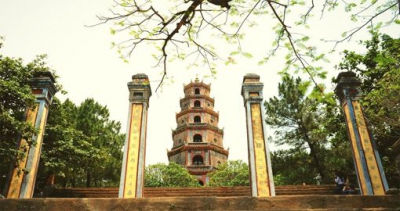
<svg viewBox="0 0 400 211"><path fill-rule="evenodd" d="M209 186L232 187L249 186L249 166L241 160L228 161L220 164L218 169L207 175Z"/></svg>

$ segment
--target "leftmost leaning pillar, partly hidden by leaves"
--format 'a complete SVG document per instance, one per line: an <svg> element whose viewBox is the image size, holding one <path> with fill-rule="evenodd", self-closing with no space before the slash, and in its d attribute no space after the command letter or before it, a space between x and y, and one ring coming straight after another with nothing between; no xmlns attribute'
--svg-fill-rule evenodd
<svg viewBox="0 0 400 211"><path fill-rule="evenodd" d="M27 156L20 160L19 168L14 167L10 172L6 187L7 198L32 198L33 196L47 114L53 96L57 92L54 83L54 76L50 72L35 73L30 82L36 101L34 108L26 110L25 121L32 124L38 133L30 138L31 144L25 139L21 139L18 143L19 150L26 151ZM21 171L21 169L25 170Z"/></svg>

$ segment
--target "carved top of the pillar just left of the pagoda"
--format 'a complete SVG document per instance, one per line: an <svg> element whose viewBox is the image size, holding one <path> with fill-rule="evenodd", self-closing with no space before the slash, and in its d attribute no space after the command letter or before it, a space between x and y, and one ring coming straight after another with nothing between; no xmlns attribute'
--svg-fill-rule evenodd
<svg viewBox="0 0 400 211"><path fill-rule="evenodd" d="M149 106L151 97L150 81L146 74L139 73L132 76L132 81L128 82L129 101L146 103Z"/></svg>

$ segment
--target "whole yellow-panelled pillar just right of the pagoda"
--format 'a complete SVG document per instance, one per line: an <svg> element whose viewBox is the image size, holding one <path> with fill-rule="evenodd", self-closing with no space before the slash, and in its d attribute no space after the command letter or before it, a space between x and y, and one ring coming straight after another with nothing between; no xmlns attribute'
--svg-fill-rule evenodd
<svg viewBox="0 0 400 211"><path fill-rule="evenodd" d="M260 76L247 74L242 84L246 109L250 187L253 197L275 196L270 153L265 134L263 83Z"/></svg>

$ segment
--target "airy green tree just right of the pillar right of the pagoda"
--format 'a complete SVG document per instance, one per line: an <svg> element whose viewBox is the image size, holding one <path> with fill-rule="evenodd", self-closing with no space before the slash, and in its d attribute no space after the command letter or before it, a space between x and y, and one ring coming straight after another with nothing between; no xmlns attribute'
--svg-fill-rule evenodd
<svg viewBox="0 0 400 211"><path fill-rule="evenodd" d="M265 121L276 129L274 143L287 144L297 150L309 149L313 166L324 178L325 156L321 150L327 143L328 134L321 128L321 122L327 113L315 99L307 97L309 86L308 81L284 76L278 85L279 96L264 103Z"/></svg>

